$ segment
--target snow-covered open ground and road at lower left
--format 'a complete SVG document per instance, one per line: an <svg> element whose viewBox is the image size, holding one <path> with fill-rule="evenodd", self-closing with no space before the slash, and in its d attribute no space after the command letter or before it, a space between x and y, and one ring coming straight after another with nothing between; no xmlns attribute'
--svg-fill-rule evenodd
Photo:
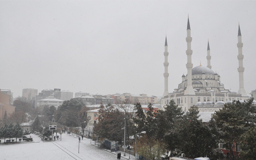
<svg viewBox="0 0 256 160"><path fill-rule="evenodd" d="M98 144L90 139L84 138L81 140L78 153L78 138L69 134L62 134L62 140L52 142L42 142L36 136L31 135L32 143L14 143L0 145L1 160L116 160L115 152L98 148ZM121 160L129 159L129 154ZM130 155L131 160L135 157Z"/></svg>

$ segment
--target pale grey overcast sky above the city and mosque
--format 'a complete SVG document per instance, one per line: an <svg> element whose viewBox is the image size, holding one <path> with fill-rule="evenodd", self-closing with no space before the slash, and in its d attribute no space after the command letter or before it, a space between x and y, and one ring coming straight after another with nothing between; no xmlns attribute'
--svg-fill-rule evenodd
<svg viewBox="0 0 256 160"><path fill-rule="evenodd" d="M164 93L187 73L186 26L193 67L207 65L238 91L238 22L244 88L256 89L256 1L0 1L0 89L59 88L74 93Z"/></svg>

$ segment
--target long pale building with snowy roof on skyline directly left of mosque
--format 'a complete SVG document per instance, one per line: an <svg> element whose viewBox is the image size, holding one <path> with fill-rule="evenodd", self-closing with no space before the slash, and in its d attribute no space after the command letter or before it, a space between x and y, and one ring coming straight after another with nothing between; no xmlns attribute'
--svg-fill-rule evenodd
<svg viewBox="0 0 256 160"><path fill-rule="evenodd" d="M115 97L115 104L122 104L124 103L124 101L128 101L131 104L140 103L142 105L148 105L149 103L157 103L156 96L147 96L146 94L131 95L130 93L116 93L113 96Z"/></svg>

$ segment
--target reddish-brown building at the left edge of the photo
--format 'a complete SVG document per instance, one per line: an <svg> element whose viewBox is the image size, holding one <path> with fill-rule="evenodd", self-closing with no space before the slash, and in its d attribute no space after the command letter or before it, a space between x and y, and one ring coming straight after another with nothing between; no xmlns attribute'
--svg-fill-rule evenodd
<svg viewBox="0 0 256 160"><path fill-rule="evenodd" d="M7 116L15 112L15 107L10 105L11 96L2 93L0 89L0 120L4 118L4 114L6 112Z"/></svg>

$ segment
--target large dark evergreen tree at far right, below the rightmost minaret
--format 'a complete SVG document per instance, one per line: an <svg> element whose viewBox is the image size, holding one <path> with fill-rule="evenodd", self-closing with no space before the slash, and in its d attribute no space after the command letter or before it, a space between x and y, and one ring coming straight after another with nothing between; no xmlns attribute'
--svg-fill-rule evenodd
<svg viewBox="0 0 256 160"><path fill-rule="evenodd" d="M233 101L225 104L220 111L216 111L214 120L222 132L220 137L224 141L224 147L233 155L232 146L239 142L246 142L242 136L249 128L255 127L255 106L252 105L253 98L247 102ZM244 148L246 150L246 148ZM243 148L242 148L243 150Z"/></svg>

